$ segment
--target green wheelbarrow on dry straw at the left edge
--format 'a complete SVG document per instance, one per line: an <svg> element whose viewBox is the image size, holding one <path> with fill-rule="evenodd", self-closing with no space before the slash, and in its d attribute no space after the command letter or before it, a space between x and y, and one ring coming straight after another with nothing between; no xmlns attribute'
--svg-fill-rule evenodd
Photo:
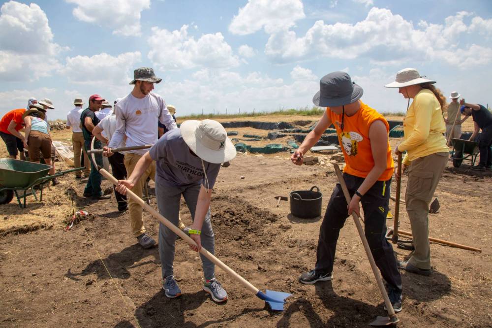
<svg viewBox="0 0 492 328"><path fill-rule="evenodd" d="M32 195L38 200L34 187L39 191L39 201L43 200L43 187L56 177L66 173L81 171L85 167L78 167L67 171L47 175L51 166L31 163L10 158L0 159L0 204L8 204L17 197L21 208L26 208L26 197ZM21 202L23 199L23 202Z"/></svg>

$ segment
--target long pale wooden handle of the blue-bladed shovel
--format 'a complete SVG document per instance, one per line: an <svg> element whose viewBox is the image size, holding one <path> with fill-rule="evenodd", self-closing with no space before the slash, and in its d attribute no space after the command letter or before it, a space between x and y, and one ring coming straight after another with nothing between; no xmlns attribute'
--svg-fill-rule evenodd
<svg viewBox="0 0 492 328"><path fill-rule="evenodd" d="M99 170L99 173L104 175L106 177L106 179L111 181L115 186L118 184L118 180L114 176L112 176L111 173L106 171L104 168L101 168ZM152 206L148 205L145 201L143 201L142 198L138 197L131 190L128 190L128 189L126 190L126 195L128 197L130 197L131 199L135 200L140 206L142 206L143 208L148 210L157 220L159 220L167 228L171 229L174 233L176 233L178 236L180 236L188 244L196 246L196 243L193 239L191 239L186 233L181 231L178 227L176 227L169 220L167 220L165 217L163 217L162 214L157 212ZM258 289L256 287L254 287L251 283L249 283L245 278L243 278L239 274L237 274L236 271L234 271L233 269L231 269L230 267L225 265L224 262L217 259L212 253L207 251L205 248L203 248L203 247L200 248L200 253L203 254L203 256L205 256L207 259L209 259L210 261L212 261L216 265L218 265L222 270L224 270L232 278L239 281L251 293L253 293L255 295L258 293Z"/></svg>

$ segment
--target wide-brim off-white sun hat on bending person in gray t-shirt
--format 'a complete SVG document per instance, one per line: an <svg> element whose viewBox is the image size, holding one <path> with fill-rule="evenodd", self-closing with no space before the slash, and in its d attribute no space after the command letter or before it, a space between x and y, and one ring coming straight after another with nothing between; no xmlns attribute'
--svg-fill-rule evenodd
<svg viewBox="0 0 492 328"><path fill-rule="evenodd" d="M224 127L214 120L188 120L180 126L183 140L193 153L209 163L225 163L236 157L236 147Z"/></svg>

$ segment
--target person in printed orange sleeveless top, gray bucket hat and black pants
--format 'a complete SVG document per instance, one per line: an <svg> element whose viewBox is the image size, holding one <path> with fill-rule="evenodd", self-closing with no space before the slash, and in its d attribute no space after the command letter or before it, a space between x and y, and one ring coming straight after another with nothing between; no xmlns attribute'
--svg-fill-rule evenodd
<svg viewBox="0 0 492 328"><path fill-rule="evenodd" d="M359 100L363 89L352 83L345 72L325 75L314 96L317 106L327 109L313 131L292 154L296 165L303 164L304 154L332 125L338 134L345 158L343 179L352 200L347 204L339 184L332 193L319 230L316 265L303 273L299 281L314 284L333 279L333 261L338 234L352 212L360 215L360 202L365 218L365 234L381 275L386 281L388 296L395 312L401 311L401 276L393 247L386 240L386 215L390 199L390 184L394 163L391 156L386 119Z"/></svg>

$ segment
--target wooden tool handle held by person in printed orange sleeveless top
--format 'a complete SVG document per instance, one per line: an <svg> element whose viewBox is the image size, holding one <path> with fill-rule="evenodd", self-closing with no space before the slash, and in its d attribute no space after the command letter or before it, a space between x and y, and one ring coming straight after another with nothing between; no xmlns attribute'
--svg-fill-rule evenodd
<svg viewBox="0 0 492 328"><path fill-rule="evenodd" d="M345 180L343 180L343 176L341 175L340 172L340 167L338 167L338 164L333 164L333 167L335 167L335 172L337 173L338 181L340 182L341 190L343 190L343 195L345 195L345 199L347 200L347 204L350 204L350 194L348 193L347 185L345 184ZM386 311L388 312L388 315L390 317L390 320L392 318L396 319L397 315L395 314L395 310L393 309L393 305L391 305L390 298L388 297L388 293L386 293L386 289L384 288L383 280L381 279L381 276L379 275L379 272L377 271L377 266L376 262L374 262L374 258L372 257L372 253L370 252L370 247L368 240L366 239L366 235L364 234L364 230L362 229L361 222L359 221L359 217L355 212L352 212L352 218L354 219L355 226L357 227L357 231L359 232L359 236L361 237L362 244L364 245L364 250L366 251L366 254L368 256L369 262L370 262L370 267L372 269L372 273L374 273L374 277L376 278L377 281L377 286L379 287L379 291L381 292L381 295L383 295L384 299L384 305L386 305ZM394 322L394 320L392 320Z"/></svg>

